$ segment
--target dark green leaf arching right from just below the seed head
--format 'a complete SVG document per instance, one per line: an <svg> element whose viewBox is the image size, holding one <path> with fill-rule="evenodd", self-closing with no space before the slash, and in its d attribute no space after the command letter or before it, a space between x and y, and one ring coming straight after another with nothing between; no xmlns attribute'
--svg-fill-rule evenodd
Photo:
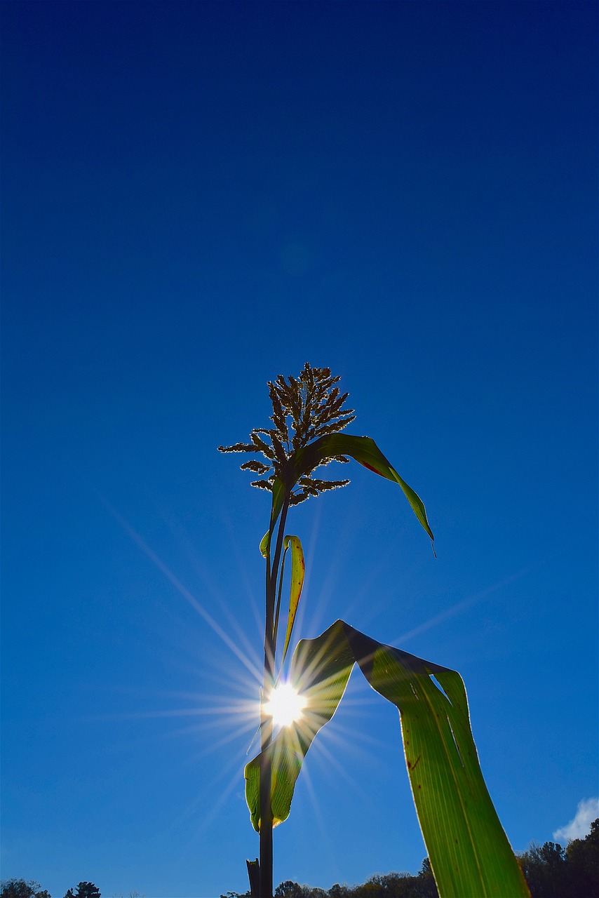
<svg viewBox="0 0 599 898"><path fill-rule="evenodd" d="M332 458L334 455L349 455L364 465L365 468L368 468L369 471L374 471L375 474L380 474L381 477L385 477L387 480L399 483L418 521L422 524L431 540L435 539L428 525L424 503L418 494L408 486L405 480L402 480L398 472L392 467L391 462L384 457L370 436L351 436L351 434L321 436L319 439L314 440L313 443L305 446L304 449L298 449L297 452L293 453L286 463L282 480L275 478L273 482L272 511L270 515L272 526L274 526L281 512L286 491L293 489L303 474L313 471L318 464L325 459Z"/></svg>

